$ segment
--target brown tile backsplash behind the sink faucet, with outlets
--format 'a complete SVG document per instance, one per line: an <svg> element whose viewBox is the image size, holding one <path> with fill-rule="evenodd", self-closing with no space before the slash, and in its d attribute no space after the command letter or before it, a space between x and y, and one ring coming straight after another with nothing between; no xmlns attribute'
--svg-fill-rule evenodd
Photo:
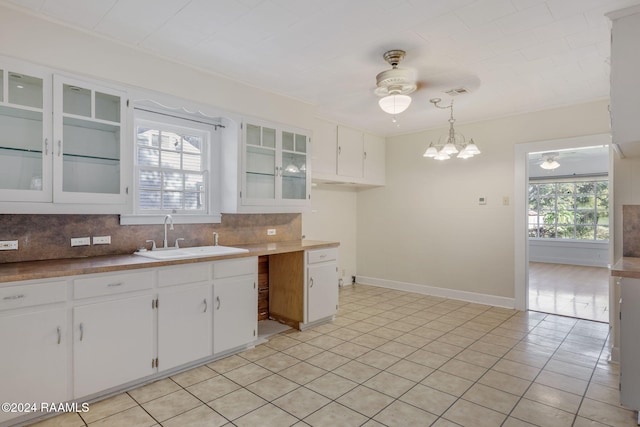
<svg viewBox="0 0 640 427"><path fill-rule="evenodd" d="M276 235L268 236L267 229ZM168 232L170 245L183 237L180 246L213 244L233 246L284 242L302 238L301 214L223 214L220 224L175 224ZM71 238L111 236L110 245L71 246ZM163 225L120 225L118 215L0 215L0 240L18 240L17 251L0 251L0 263L45 259L130 254L153 239L159 246Z"/></svg>

